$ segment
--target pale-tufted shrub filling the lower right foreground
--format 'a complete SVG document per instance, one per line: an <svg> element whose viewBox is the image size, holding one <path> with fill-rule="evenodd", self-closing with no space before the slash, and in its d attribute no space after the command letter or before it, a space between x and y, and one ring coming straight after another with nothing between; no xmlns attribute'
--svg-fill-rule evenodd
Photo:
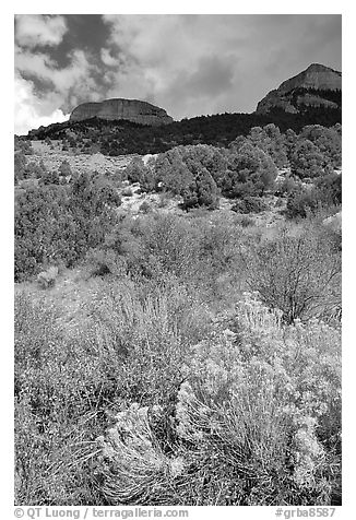
<svg viewBox="0 0 356 520"><path fill-rule="evenodd" d="M110 505L340 504L340 348L334 329L283 326L247 296L194 347L173 412L132 404L98 439L98 492Z"/></svg>

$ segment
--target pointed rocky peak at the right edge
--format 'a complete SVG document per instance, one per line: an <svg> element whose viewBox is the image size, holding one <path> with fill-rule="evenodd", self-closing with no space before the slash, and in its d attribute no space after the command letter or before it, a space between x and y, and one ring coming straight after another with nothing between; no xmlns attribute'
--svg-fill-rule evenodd
<svg viewBox="0 0 356 520"><path fill-rule="evenodd" d="M273 108L289 114L298 114L306 107L341 108L341 72L312 63L269 92L258 104L256 113L268 114Z"/></svg>

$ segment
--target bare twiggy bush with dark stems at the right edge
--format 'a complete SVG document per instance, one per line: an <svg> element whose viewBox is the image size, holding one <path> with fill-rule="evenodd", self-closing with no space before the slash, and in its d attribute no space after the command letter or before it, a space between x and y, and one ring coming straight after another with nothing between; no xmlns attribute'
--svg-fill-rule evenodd
<svg viewBox="0 0 356 520"><path fill-rule="evenodd" d="M341 305L341 256L310 225L299 236L283 231L247 256L247 283L263 303L283 311L286 322L331 319Z"/></svg>

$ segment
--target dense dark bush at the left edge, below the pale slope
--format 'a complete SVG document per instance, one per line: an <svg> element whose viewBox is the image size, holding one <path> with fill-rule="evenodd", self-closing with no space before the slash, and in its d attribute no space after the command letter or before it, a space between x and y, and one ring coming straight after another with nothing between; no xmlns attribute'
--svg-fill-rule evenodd
<svg viewBox="0 0 356 520"><path fill-rule="evenodd" d="M62 260L83 258L104 241L117 222L120 199L112 186L95 174L81 175L68 186L38 186L15 199L15 280Z"/></svg>

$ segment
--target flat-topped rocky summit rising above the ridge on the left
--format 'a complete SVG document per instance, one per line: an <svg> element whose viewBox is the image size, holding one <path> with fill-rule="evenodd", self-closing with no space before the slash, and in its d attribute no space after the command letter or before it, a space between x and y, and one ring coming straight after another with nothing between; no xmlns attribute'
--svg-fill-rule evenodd
<svg viewBox="0 0 356 520"><path fill-rule="evenodd" d="M161 126L173 122L173 118L163 108L138 99L105 99L100 103L83 103L72 111L71 121L82 121L97 117L106 120L126 119L147 126Z"/></svg>

